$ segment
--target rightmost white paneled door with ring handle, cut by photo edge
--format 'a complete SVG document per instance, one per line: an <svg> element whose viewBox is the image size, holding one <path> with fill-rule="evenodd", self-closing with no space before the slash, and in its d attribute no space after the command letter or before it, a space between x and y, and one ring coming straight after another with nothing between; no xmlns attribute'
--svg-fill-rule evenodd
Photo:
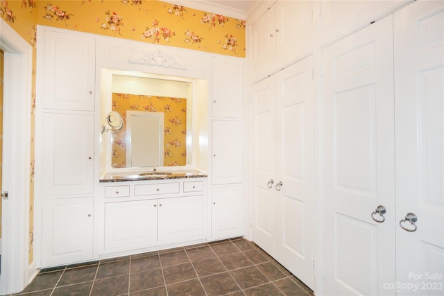
<svg viewBox="0 0 444 296"><path fill-rule="evenodd" d="M394 18L399 285L390 288L401 295L444 294L443 3L418 1ZM407 213L416 232L398 225Z"/></svg>

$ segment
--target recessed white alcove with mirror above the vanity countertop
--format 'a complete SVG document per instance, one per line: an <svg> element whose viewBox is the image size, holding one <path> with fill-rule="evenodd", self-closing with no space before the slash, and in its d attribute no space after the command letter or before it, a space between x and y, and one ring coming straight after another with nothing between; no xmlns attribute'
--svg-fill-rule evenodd
<svg viewBox="0 0 444 296"><path fill-rule="evenodd" d="M123 126L102 128L101 175L195 167L207 92L206 80L102 69L101 126L110 114Z"/></svg>

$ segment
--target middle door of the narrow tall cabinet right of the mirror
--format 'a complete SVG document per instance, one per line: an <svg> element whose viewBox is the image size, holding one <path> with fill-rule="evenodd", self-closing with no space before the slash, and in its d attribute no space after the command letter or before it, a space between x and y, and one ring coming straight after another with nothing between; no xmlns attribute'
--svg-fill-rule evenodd
<svg viewBox="0 0 444 296"><path fill-rule="evenodd" d="M243 131L241 121L212 121L212 184L242 182Z"/></svg>

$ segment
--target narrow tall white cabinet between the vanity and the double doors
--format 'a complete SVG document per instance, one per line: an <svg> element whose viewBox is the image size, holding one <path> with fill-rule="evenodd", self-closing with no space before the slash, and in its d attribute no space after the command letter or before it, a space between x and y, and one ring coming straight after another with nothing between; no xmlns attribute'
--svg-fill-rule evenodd
<svg viewBox="0 0 444 296"><path fill-rule="evenodd" d="M211 239L245 234L244 60L212 59Z"/></svg>

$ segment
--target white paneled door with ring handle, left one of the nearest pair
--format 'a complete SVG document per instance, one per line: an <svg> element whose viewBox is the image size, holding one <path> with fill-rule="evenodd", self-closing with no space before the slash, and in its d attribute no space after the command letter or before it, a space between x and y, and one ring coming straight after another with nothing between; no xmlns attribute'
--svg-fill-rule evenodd
<svg viewBox="0 0 444 296"><path fill-rule="evenodd" d="M390 295L395 280L392 20L322 51L325 295Z"/></svg>

